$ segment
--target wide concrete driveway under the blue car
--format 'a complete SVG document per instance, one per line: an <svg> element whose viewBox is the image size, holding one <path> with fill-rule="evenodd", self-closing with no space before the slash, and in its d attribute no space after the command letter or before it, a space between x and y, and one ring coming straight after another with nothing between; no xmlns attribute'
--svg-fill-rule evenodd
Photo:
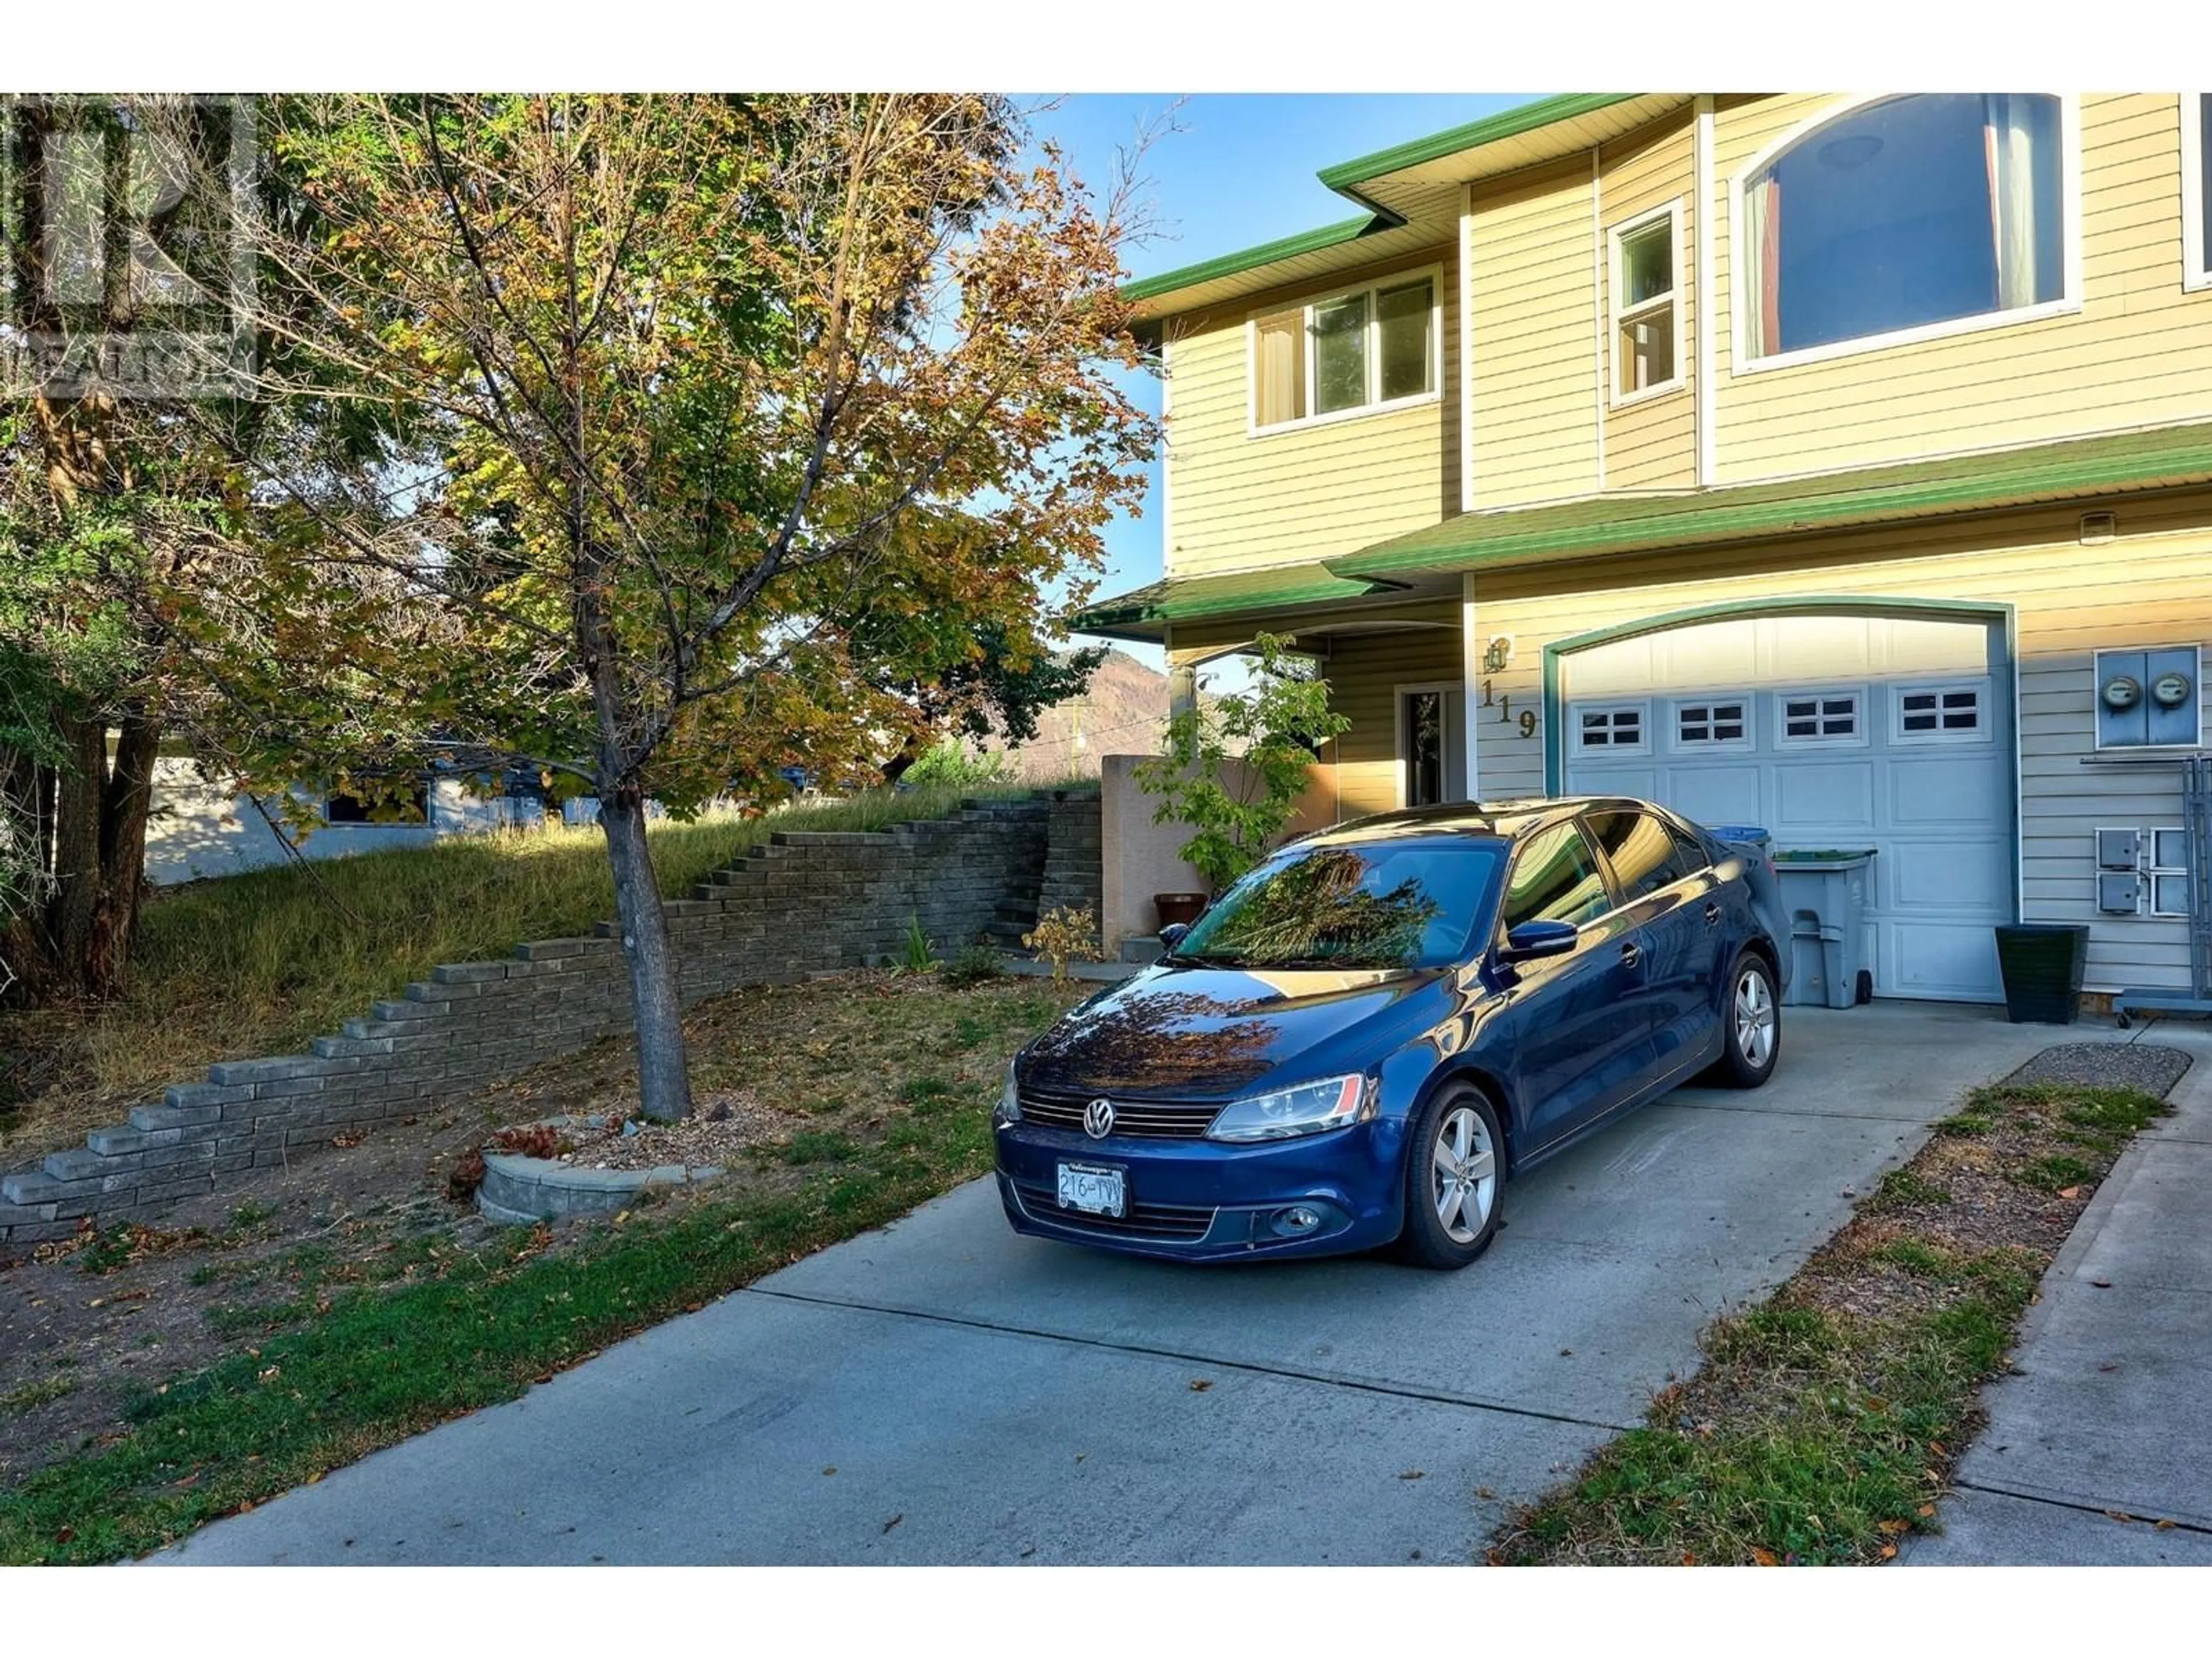
<svg viewBox="0 0 2212 1659"><path fill-rule="evenodd" d="M1464 1562L2066 1035L1792 1009L1767 1088L1513 1183L1462 1274L1121 1261L1015 1239L978 1181L166 1559Z"/></svg>

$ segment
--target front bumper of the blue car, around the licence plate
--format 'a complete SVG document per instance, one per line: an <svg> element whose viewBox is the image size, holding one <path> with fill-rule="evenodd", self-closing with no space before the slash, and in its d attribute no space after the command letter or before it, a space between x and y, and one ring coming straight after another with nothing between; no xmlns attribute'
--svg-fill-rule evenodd
<svg viewBox="0 0 2212 1659"><path fill-rule="evenodd" d="M1164 1261L1254 1261L1374 1250L1402 1221L1405 1126L1371 1119L1292 1141L1230 1146L1009 1124L998 1130L998 1197L1015 1232ZM1060 1164L1128 1175L1119 1221L1062 1210ZM1283 1237L1274 1219L1307 1208L1321 1225Z"/></svg>

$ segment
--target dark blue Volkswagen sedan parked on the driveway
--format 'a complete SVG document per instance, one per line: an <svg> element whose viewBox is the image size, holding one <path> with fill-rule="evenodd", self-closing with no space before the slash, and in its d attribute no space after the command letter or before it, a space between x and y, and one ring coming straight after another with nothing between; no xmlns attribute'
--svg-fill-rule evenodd
<svg viewBox="0 0 2212 1659"><path fill-rule="evenodd" d="M1464 1267L1500 1186L1781 1053L1772 865L1646 801L1451 805L1296 841L1031 1042L1015 1232L1175 1261Z"/></svg>

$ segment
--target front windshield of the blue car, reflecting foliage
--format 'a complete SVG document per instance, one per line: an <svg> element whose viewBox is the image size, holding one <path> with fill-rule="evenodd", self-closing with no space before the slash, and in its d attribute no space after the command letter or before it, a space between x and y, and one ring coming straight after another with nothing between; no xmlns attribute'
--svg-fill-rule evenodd
<svg viewBox="0 0 2212 1659"><path fill-rule="evenodd" d="M1234 967L1444 967L1467 956L1502 863L1502 843L1475 836L1292 847L1221 894L1175 958Z"/></svg>

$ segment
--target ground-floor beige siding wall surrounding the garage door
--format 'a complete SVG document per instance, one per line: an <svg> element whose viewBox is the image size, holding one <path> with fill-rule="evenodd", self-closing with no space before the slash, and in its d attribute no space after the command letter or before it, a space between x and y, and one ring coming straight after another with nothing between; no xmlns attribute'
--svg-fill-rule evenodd
<svg viewBox="0 0 2212 1659"><path fill-rule="evenodd" d="M2212 493L2124 500L2119 540L2081 546L2079 509L1900 524L1796 544L1761 542L1475 577L1475 630L1506 637L1498 695L1542 710L1544 646L1710 604L1805 595L1969 599L2013 606L2020 699L2022 920L2090 922L2088 987L2183 987L2181 920L2097 911L2093 830L2179 825L2172 770L2093 768L2095 653L2212 641ZM2201 677L2199 677L2201 684ZM1533 737L1478 723L1478 792L1544 792Z"/></svg>

